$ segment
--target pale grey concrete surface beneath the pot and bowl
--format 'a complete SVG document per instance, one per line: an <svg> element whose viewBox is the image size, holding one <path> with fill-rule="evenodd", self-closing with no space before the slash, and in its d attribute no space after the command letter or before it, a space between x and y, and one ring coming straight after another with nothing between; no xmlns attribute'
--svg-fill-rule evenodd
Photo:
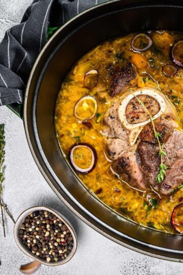
<svg viewBox="0 0 183 275"><path fill-rule="evenodd" d="M86 1L86 0L85 0ZM4 33L21 20L32 0L0 0L0 40ZM43 204L55 207L68 216L78 236L78 250L74 258L60 267L41 266L37 275L179 275L183 265L144 256L123 248L103 237L77 218L48 186L39 172L26 141L23 122L5 106L0 107L0 123L5 123L6 171L3 199L14 218L26 208ZM17 247L13 237L13 223L6 216L7 237L0 226L0 274L20 274L21 264L30 259Z"/></svg>

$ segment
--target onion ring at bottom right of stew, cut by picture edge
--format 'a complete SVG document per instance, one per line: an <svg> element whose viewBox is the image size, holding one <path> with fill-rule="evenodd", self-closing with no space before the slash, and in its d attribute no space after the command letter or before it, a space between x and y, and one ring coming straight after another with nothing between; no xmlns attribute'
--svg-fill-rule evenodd
<svg viewBox="0 0 183 275"><path fill-rule="evenodd" d="M183 203L178 204L173 209L170 223L177 233L183 234Z"/></svg>

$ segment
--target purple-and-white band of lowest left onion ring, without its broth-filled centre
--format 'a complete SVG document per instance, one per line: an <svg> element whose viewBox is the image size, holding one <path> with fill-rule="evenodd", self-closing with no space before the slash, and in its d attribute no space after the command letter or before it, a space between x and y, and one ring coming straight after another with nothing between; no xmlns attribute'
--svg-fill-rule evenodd
<svg viewBox="0 0 183 275"><path fill-rule="evenodd" d="M92 152L92 163L90 164L90 166L88 168L85 168L85 169L80 168L74 162L73 152L74 152L74 149L79 148L79 147L88 148ZM78 173L80 173L80 174L88 174L88 173L92 172L94 170L94 168L96 167L96 164L97 164L97 152L96 152L96 150L95 150L95 148L93 146L91 146L91 145L89 145L87 143L75 144L70 149L70 161L72 163L72 166L74 167L74 169Z"/></svg>

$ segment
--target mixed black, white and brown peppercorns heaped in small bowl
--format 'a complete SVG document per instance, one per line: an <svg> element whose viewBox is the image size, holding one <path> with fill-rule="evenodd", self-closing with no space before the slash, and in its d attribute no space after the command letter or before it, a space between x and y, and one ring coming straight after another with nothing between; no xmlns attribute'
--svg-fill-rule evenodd
<svg viewBox="0 0 183 275"><path fill-rule="evenodd" d="M35 211L28 215L19 233L26 248L47 262L64 260L73 249L70 230L48 211Z"/></svg>

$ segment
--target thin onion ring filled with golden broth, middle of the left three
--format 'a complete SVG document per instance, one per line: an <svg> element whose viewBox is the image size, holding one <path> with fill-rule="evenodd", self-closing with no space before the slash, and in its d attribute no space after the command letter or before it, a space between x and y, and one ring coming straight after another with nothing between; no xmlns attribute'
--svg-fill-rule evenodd
<svg viewBox="0 0 183 275"><path fill-rule="evenodd" d="M81 97L74 106L74 116L79 120L93 119L97 113L97 100L93 96Z"/></svg>

